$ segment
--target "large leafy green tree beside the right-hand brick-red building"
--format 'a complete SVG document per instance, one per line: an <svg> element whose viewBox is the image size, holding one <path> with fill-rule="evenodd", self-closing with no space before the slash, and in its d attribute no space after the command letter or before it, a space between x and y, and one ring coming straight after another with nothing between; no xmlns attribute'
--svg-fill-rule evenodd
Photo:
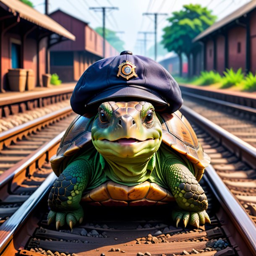
<svg viewBox="0 0 256 256"><path fill-rule="evenodd" d="M202 7L199 4L183 5L183 9L172 13L167 20L170 26L165 27L162 44L169 51L174 51L180 59L180 76L182 75L181 54L184 53L188 58L188 74L190 74L191 60L190 54L197 43L192 40L214 24L216 16L212 15L212 10Z"/></svg>

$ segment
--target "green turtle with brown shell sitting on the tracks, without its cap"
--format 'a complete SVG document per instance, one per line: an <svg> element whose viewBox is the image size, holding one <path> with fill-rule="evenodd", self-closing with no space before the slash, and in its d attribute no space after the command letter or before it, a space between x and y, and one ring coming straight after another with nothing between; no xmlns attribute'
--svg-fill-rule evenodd
<svg viewBox="0 0 256 256"><path fill-rule="evenodd" d="M161 113L150 102L103 102L78 115L51 159L58 176L49 195L48 224L83 221L80 202L94 206L151 206L176 201L178 226L210 222L199 185L210 158L178 110Z"/></svg>

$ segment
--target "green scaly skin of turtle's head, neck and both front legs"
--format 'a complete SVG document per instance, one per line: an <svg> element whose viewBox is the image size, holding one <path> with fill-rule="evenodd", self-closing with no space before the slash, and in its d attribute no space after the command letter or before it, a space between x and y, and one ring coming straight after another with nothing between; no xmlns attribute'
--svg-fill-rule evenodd
<svg viewBox="0 0 256 256"><path fill-rule="evenodd" d="M88 181L91 187L92 174L104 172L110 180L128 186L148 180L155 167L153 156L162 143L162 125L149 102L104 102L92 125L91 138L104 157L100 162L104 165L92 168L93 157L89 163L81 155L83 159L69 164L56 180L48 200L48 223L55 220L57 229L67 222L72 230L73 225L82 221L84 213L79 203ZM191 171L185 164L164 160L165 166L159 172L164 174L165 185L170 187L180 207L172 212L176 225L181 219L185 226L189 223L199 227L210 222L205 212L208 203L204 190ZM99 175L94 182L99 185L103 180Z"/></svg>

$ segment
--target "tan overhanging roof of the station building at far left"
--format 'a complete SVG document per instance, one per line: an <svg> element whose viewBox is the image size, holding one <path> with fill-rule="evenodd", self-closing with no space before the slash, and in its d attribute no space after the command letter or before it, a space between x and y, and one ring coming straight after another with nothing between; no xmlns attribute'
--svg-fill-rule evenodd
<svg viewBox="0 0 256 256"><path fill-rule="evenodd" d="M63 28L60 24L54 21L52 18L39 13L34 8L31 8L29 5L22 3L19 0L0 0L0 3L5 5L11 13L18 13L19 16L33 24L36 24L44 29L52 31L60 36L71 39L73 41L76 40L76 37L71 34L68 30Z"/></svg>

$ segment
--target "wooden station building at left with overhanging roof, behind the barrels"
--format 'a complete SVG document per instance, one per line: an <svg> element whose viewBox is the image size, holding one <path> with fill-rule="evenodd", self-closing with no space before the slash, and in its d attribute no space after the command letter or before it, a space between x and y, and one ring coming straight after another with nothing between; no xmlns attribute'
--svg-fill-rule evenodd
<svg viewBox="0 0 256 256"><path fill-rule="evenodd" d="M73 34L52 18L19 0L0 0L0 89L8 90L9 68L31 69L35 86L42 86L42 74L49 71L48 49ZM48 66L47 66L48 64Z"/></svg>

